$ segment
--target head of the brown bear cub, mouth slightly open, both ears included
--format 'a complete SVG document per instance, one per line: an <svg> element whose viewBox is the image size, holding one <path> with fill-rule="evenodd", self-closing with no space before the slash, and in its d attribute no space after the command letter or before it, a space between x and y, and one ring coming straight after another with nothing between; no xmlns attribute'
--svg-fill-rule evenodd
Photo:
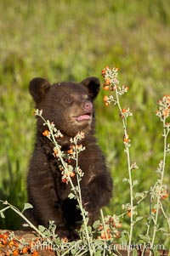
<svg viewBox="0 0 170 256"><path fill-rule="evenodd" d="M42 117L54 122L59 131L68 136L85 134L94 129L94 99L99 94L99 79L88 77L80 83L60 82L51 85L46 79L36 77L30 82L30 94ZM40 133L45 129L37 119Z"/></svg>

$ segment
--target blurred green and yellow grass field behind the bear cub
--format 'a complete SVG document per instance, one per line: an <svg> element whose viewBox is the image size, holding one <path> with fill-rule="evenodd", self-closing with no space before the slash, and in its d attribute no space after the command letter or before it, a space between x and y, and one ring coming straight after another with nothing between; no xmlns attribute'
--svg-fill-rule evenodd
<svg viewBox="0 0 170 256"><path fill-rule="evenodd" d="M120 68L122 83L129 87L122 106L130 107L128 121L132 160L139 170L135 190L145 191L157 179L162 157L161 123L156 102L169 94L170 3L161 0L119 1L10 1L0 3L0 199L22 208L26 202L26 171L34 141L33 103L28 83L33 77L50 82L81 81L100 76L105 65ZM122 213L129 202L122 121L113 106L105 107L101 92L96 100L97 134L111 173L114 197L106 213ZM167 159L165 183L169 185ZM170 203L166 199L169 212ZM146 216L149 203L139 207ZM0 219L0 228L17 229L12 212ZM127 227L126 219L123 221ZM165 221L161 220L161 226ZM139 224L134 241L144 234ZM166 238L158 236L159 242Z"/></svg>

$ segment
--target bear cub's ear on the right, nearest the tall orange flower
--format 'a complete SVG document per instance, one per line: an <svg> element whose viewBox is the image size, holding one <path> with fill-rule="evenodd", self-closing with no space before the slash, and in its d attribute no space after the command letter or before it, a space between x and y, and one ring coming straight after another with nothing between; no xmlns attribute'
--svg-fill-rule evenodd
<svg viewBox="0 0 170 256"><path fill-rule="evenodd" d="M88 88L90 97L94 100L99 94L100 82L97 77L88 77L81 82L85 87Z"/></svg>

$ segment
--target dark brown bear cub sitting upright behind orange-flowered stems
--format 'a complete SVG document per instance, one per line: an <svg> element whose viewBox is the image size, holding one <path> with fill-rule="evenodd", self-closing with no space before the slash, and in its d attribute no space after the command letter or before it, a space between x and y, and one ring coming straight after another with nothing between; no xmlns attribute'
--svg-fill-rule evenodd
<svg viewBox="0 0 170 256"><path fill-rule="evenodd" d="M99 79L88 77L80 83L50 83L41 77L30 82L30 94L35 107L42 110L42 117L54 122L62 138L59 145L62 151L68 151L70 139L78 132L85 134L80 144L85 151L80 152L78 165L84 173L81 180L82 204L88 211L89 225L99 217L99 209L111 199L111 174L106 168L105 157L94 137L94 100L99 94ZM49 220L54 220L60 237L76 239L76 229L82 215L77 209L77 201L69 199L71 185L61 181L59 162L54 157L54 145L45 136L41 117L37 117L37 138L31 156L27 176L28 202L33 208L26 216L34 225L48 227ZM76 162L71 160L75 168ZM77 177L71 178L76 184ZM78 224L79 223L79 224Z"/></svg>

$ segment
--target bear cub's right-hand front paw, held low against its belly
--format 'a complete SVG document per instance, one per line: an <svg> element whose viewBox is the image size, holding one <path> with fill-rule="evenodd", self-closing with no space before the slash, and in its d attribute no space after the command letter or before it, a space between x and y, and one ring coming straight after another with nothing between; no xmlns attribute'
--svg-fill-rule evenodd
<svg viewBox="0 0 170 256"><path fill-rule="evenodd" d="M93 195L90 194L88 188L82 189L82 207L89 215L96 211L97 202Z"/></svg>

